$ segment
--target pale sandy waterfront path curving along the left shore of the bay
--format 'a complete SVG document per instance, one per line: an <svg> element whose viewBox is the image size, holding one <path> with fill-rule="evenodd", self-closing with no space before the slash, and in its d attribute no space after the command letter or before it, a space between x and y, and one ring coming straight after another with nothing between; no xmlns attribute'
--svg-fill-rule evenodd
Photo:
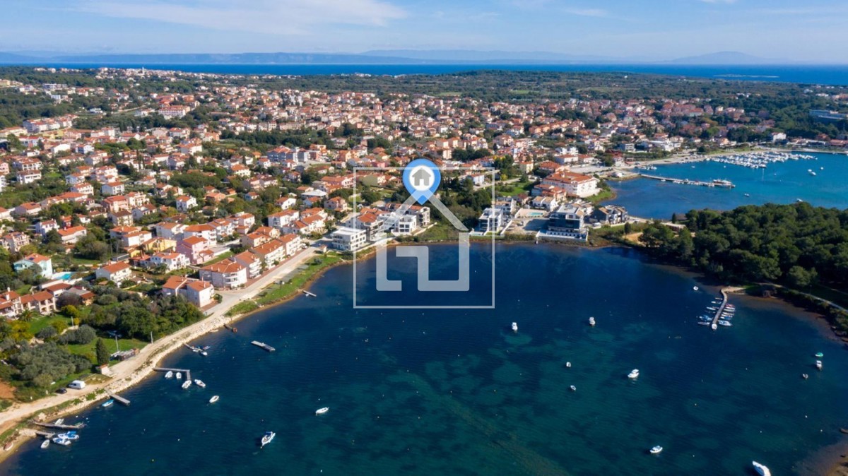
<svg viewBox="0 0 848 476"><path fill-rule="evenodd" d="M212 312L209 313L206 318L180 329L172 335L166 335L148 346L144 346L138 352L136 357L114 364L110 367L110 370L112 371L112 378L109 379L109 381L86 385L84 390L69 390L68 393L63 395L56 394L29 403L14 404L4 412L0 412L0 431L10 429L25 419L37 418L39 412L44 412L50 408L67 404L70 401L79 400L78 403L64 407L61 410L61 413L78 411L81 408L87 407L97 401L100 396L90 401L86 400L86 397L91 396L100 390L117 393L131 387L132 385L136 385L153 371L153 368L157 365L157 363L159 363L159 360L161 360L162 357L165 357L171 351L181 348L183 342L195 339L213 329L219 329L223 324L230 321L232 318L227 317L226 312L238 302L242 302L256 296L259 294L259 291L262 291L265 287L273 284L274 281L281 279L283 276L297 270L299 266L308 262L317 255L318 250L314 246L310 246L303 251L298 252L277 268L272 269L270 273L265 274L265 276L254 281L254 283L248 285L248 287L237 291L220 291L219 294L223 297L223 299L213 308ZM102 397L105 396L107 396L107 394L103 392ZM25 436L29 434L31 434L31 432L28 432L27 434L22 433L21 435ZM15 439L14 445L20 444L21 440L21 438Z"/></svg>

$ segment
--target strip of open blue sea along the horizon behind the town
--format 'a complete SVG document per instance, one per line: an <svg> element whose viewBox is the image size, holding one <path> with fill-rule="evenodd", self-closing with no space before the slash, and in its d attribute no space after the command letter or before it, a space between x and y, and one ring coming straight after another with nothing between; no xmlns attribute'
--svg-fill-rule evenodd
<svg viewBox="0 0 848 476"><path fill-rule="evenodd" d="M53 64L56 68L176 69L234 75L440 75L497 69L505 71L622 72L726 80L848 85L848 65L676 65L676 64Z"/></svg>

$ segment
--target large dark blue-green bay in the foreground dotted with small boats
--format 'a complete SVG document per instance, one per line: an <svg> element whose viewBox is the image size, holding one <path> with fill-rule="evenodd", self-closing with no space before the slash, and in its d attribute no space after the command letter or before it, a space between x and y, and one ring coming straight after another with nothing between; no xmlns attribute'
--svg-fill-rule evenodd
<svg viewBox="0 0 848 476"><path fill-rule="evenodd" d="M474 247L476 271L488 256ZM131 407L81 413L73 446L32 441L0 473L787 474L840 440L848 357L794 308L735 298L713 332L694 317L717 291L632 250L499 246L495 262L496 309L479 311L354 310L351 268L334 268L317 298L196 341L209 357L165 359L206 389L153 375Z"/></svg>

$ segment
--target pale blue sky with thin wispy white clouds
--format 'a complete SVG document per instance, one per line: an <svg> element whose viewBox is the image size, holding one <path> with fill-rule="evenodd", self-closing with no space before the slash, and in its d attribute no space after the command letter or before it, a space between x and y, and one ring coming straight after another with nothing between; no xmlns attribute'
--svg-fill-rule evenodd
<svg viewBox="0 0 848 476"><path fill-rule="evenodd" d="M719 51L848 64L845 0L3 0L0 51Z"/></svg>

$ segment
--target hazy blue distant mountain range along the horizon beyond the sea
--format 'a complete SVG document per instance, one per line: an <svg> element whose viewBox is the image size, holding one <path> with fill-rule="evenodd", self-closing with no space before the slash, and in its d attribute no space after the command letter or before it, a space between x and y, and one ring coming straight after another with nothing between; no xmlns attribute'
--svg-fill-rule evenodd
<svg viewBox="0 0 848 476"><path fill-rule="evenodd" d="M720 52L667 61L595 55L473 50L374 50L365 53L2 53L0 64L789 64Z"/></svg>

